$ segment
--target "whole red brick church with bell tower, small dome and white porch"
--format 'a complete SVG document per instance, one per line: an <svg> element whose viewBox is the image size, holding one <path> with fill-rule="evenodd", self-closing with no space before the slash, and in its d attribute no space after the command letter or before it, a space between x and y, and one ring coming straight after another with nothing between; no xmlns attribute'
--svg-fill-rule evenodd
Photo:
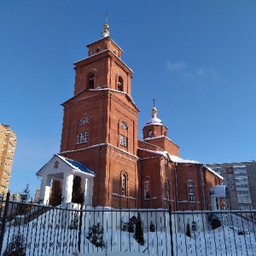
<svg viewBox="0 0 256 256"><path fill-rule="evenodd" d="M40 199L57 194L73 201L78 186L84 205L116 208L210 209L210 189L222 177L207 166L179 158L157 109L138 139L139 109L131 97L130 67L109 37L88 44L88 57L74 63L73 96L64 108L61 152L38 171ZM148 110L148 118L149 118ZM50 195L51 191L51 195Z"/></svg>

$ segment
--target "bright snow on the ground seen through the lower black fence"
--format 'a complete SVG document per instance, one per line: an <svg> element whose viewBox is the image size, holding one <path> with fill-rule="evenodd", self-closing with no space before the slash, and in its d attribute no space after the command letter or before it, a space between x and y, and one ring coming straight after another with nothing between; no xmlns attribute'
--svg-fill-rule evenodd
<svg viewBox="0 0 256 256"><path fill-rule="evenodd" d="M144 246L134 239L133 234L122 230L109 228L104 232L103 240L106 247L95 247L87 238L88 227L84 227L81 233L81 253L73 254L78 250L79 230L68 229L61 226L60 219L50 218L50 212L46 212L29 224L10 226L5 230L3 251L7 240L20 232L26 240L26 255L218 255L218 256L243 256L256 255L256 241L253 230L239 236L234 228L220 227L211 231L192 232L191 238L182 233L166 231L145 232ZM54 215L56 216L56 215ZM50 218L50 221L49 221ZM63 221L63 219L62 219ZM62 222L63 223L63 222ZM3 253L2 251L2 253Z"/></svg>

